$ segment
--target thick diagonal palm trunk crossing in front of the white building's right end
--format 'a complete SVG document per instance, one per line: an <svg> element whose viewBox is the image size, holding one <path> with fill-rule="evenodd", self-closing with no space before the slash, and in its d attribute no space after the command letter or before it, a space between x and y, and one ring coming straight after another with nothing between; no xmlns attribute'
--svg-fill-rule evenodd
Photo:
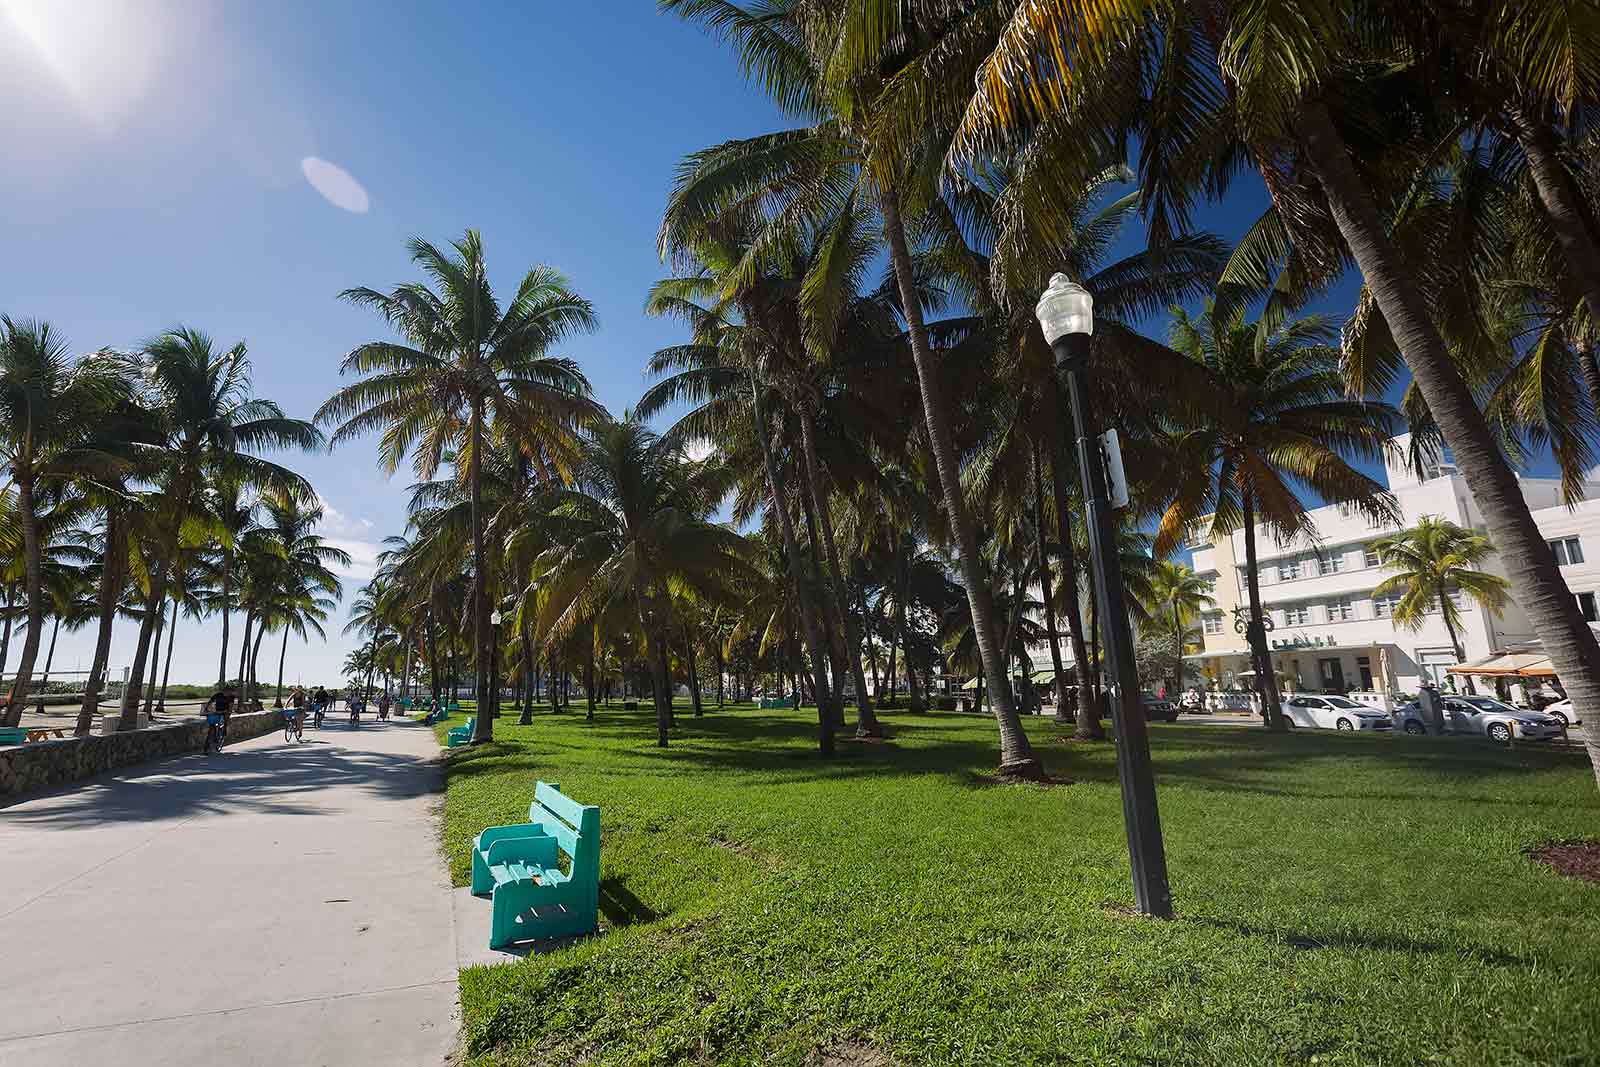
<svg viewBox="0 0 1600 1067"><path fill-rule="evenodd" d="M1562 581L1555 553L1533 522L1517 477L1434 328L1427 302L1389 240L1382 218L1362 186L1323 104L1304 109L1301 134L1328 194L1334 222L1360 266L1456 466L1483 509L1490 536L1517 590L1517 603L1528 614L1555 672L1566 685L1574 710L1600 718L1600 643L1595 643L1576 598ZM1600 729L1586 731L1584 744L1595 782L1600 784Z"/></svg>

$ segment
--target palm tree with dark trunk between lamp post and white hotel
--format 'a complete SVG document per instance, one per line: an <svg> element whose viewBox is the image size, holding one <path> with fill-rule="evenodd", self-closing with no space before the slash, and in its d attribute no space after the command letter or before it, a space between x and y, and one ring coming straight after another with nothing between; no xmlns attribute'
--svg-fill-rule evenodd
<svg viewBox="0 0 1600 1067"><path fill-rule="evenodd" d="M1392 522L1397 512L1387 490L1350 459L1381 459L1398 414L1384 403L1344 397L1330 318L1246 322L1237 301L1227 301L1227 309L1208 301L1198 318L1173 309L1168 342L1187 363L1165 370L1173 395L1186 397L1189 411L1187 427L1168 440L1170 504L1155 550L1171 552L1202 522L1213 537L1245 531L1256 685L1269 725L1285 729L1262 624L1256 536L1262 530L1280 542L1315 536L1296 486L1354 504L1374 522Z"/></svg>

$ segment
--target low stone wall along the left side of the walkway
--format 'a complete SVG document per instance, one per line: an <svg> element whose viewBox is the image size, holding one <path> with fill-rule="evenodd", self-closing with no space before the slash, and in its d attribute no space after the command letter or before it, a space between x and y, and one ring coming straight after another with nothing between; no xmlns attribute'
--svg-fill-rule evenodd
<svg viewBox="0 0 1600 1067"><path fill-rule="evenodd" d="M227 741L246 741L283 729L283 712L234 715ZM126 733L0 745L0 800L66 785L122 766L163 760L205 747L205 720Z"/></svg>

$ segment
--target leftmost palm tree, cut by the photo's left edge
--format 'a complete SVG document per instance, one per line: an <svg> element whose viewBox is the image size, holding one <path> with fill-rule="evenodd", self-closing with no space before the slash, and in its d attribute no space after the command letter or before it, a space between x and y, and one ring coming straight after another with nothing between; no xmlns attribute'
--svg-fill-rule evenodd
<svg viewBox="0 0 1600 1067"><path fill-rule="evenodd" d="M72 360L61 334L42 322L0 318L0 462L16 485L22 542L27 637L0 725L22 715L45 624L40 509L66 482L117 466L94 448L99 416L126 394L126 379L99 355Z"/></svg>

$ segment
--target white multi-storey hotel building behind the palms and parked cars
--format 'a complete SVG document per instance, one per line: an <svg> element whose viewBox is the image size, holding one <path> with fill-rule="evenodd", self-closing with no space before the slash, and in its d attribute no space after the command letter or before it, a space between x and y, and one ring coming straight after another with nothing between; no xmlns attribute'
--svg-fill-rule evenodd
<svg viewBox="0 0 1600 1067"><path fill-rule="evenodd" d="M1397 438L1403 454L1406 438ZM1560 504L1560 482L1520 478L1533 517L1552 541L1562 574L1578 597L1584 616L1595 621L1600 592L1600 501L1586 499L1574 509ZM1466 480L1448 461L1424 478L1403 462L1387 464L1387 485L1402 514L1398 526L1373 526L1352 507L1331 506L1310 512L1317 539L1278 544L1266 530L1256 531L1261 603L1272 619L1267 643L1285 691L1389 689L1416 691L1424 677L1445 680L1456 662L1443 616L1437 611L1421 630L1397 627L1390 613L1395 600L1373 597L1373 589L1392 571L1378 566L1371 542L1413 526L1422 515L1437 515L1461 526L1485 530L1483 515ZM1586 485L1584 496L1600 496L1600 483ZM1251 688L1250 653L1242 633L1250 603L1245 587L1245 534L1205 541L1202 528L1190 542L1194 569L1213 582L1216 608L1202 619L1203 651L1189 656L1208 681L1224 689ZM1485 569L1504 573L1491 560ZM1515 589L1512 595L1515 597ZM1526 614L1515 603L1499 614L1470 598L1461 601L1458 637L1467 661L1494 651L1536 645ZM1235 609L1240 609L1235 614Z"/></svg>

